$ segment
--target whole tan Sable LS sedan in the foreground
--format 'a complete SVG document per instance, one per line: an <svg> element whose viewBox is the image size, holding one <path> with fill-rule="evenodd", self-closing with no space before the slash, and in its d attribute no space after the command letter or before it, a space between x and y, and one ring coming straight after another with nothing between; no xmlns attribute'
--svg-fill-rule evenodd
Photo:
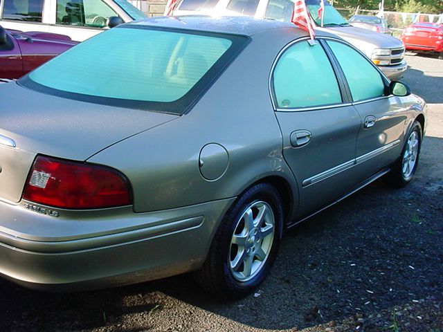
<svg viewBox="0 0 443 332"><path fill-rule="evenodd" d="M63 290L197 271L242 297L288 228L381 176L407 185L424 101L336 35L308 39L160 17L2 84L0 274Z"/></svg>

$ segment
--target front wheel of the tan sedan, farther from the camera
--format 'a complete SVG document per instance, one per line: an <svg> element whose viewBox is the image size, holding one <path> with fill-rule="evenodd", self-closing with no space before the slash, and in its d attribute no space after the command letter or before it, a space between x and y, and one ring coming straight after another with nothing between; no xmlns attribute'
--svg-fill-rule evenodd
<svg viewBox="0 0 443 332"><path fill-rule="evenodd" d="M417 170L422 147L422 125L415 121L411 127L399 159L392 165L386 181L395 187L404 187L412 181Z"/></svg>

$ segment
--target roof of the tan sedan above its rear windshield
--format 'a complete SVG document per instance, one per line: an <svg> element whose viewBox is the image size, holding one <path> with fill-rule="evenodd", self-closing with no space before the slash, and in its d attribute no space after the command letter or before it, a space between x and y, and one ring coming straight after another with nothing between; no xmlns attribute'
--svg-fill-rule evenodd
<svg viewBox="0 0 443 332"><path fill-rule="evenodd" d="M184 30L198 30L213 33L230 33L236 35L253 36L266 30L279 28L293 28L294 32L306 35L304 30L288 22L273 21L270 19L254 19L246 16L209 16L209 15L183 15L177 17L152 17L139 21L121 24L125 26L150 26L159 28L179 28ZM318 35L329 35L317 32Z"/></svg>

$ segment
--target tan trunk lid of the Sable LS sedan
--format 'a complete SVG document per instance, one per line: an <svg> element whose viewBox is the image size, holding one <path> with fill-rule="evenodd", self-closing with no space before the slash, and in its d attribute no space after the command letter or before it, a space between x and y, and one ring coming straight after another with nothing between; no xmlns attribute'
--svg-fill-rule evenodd
<svg viewBox="0 0 443 332"><path fill-rule="evenodd" d="M0 199L20 201L37 154L87 160L120 140L178 117L55 97L16 82L2 84Z"/></svg>

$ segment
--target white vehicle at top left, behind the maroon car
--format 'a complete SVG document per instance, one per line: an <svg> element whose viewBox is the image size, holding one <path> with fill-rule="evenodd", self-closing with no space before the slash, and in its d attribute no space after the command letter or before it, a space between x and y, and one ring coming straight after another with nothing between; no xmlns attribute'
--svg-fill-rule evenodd
<svg viewBox="0 0 443 332"><path fill-rule="evenodd" d="M146 16L126 0L1 0L0 24L21 31L68 35L78 42Z"/></svg>

